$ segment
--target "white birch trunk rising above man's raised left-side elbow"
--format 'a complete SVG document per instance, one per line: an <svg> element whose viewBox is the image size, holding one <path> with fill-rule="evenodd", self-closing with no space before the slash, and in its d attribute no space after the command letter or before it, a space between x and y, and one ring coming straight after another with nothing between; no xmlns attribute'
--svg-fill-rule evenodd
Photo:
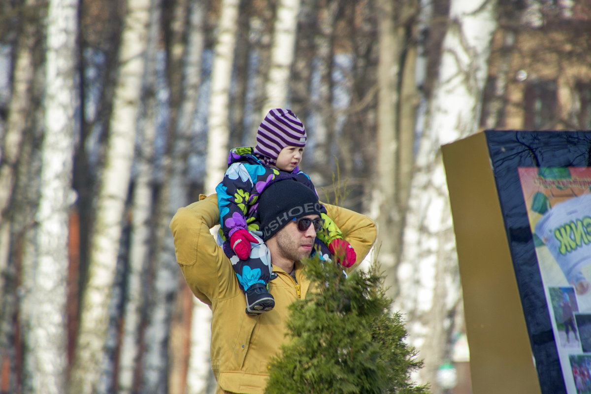
<svg viewBox="0 0 591 394"><path fill-rule="evenodd" d="M212 90L209 101L209 131L204 189L215 192L228 167L229 97L232 63L238 26L238 0L222 0L217 42L212 66Z"/></svg>

